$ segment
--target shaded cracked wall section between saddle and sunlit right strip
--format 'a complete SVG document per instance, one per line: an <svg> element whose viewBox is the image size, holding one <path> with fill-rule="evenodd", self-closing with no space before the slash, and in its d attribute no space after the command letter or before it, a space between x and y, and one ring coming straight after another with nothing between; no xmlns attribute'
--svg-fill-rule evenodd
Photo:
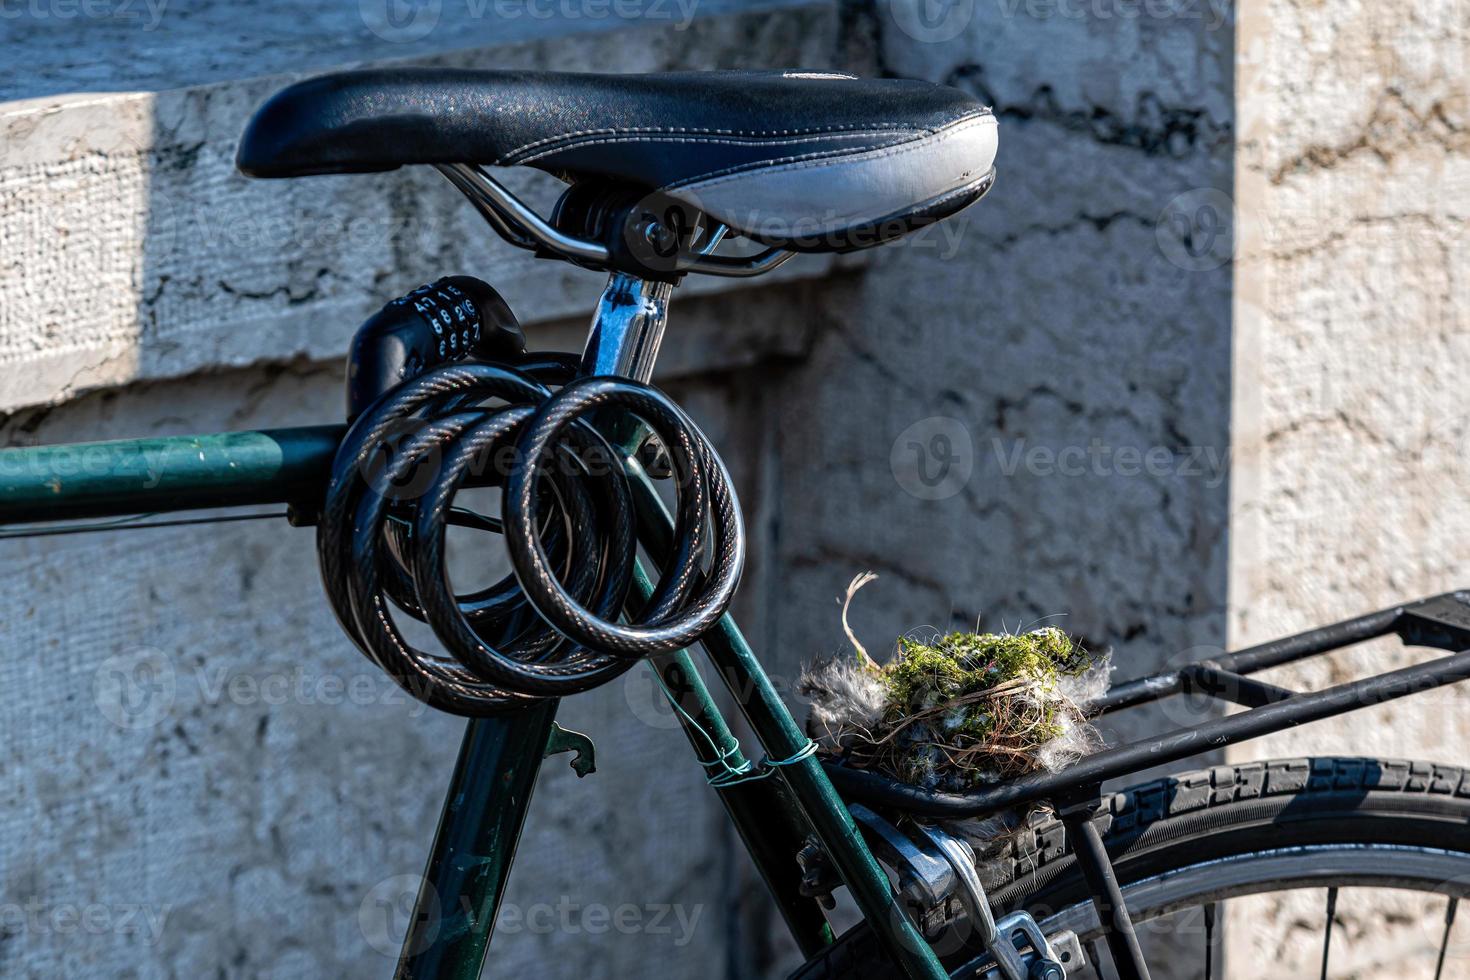
<svg viewBox="0 0 1470 980"><path fill-rule="evenodd" d="M1229 25L894 3L850 37L992 104L998 179L835 288L772 385L775 670L844 648L835 598L863 570L870 651L1044 621L1111 645L1123 674L1217 649L1229 256L1192 256L1161 216L1230 191Z"/></svg>

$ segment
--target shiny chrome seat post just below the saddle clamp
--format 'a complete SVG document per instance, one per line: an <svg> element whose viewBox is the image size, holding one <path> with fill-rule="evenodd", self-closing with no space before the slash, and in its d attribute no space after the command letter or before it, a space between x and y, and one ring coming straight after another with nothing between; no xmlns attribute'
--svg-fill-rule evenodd
<svg viewBox="0 0 1470 980"><path fill-rule="evenodd" d="M670 282L626 272L609 275L582 350L582 373L648 382L669 323L672 295Z"/></svg>

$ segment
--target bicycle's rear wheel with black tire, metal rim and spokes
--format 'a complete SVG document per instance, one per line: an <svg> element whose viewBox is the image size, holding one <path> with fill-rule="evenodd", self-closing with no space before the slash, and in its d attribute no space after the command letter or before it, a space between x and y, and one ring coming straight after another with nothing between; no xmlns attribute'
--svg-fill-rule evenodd
<svg viewBox="0 0 1470 980"><path fill-rule="evenodd" d="M1330 908L1339 887L1408 889L1444 896L1435 901L1452 918L1470 895L1470 771L1452 765L1374 758L1219 765L1135 786L1104 805L1098 829L1133 921L1147 934L1150 921L1189 917L1198 949L1175 942L1170 955L1197 954L1195 976L1223 977L1219 923L1229 899L1316 889ZM980 861L997 915L1026 908L1048 934L1066 929L1083 943L1101 940L1060 820L1035 820ZM966 964L979 951L957 902L932 909L923 926L954 976L972 976ZM1433 939L1444 964L1449 929ZM1072 973L1078 964L1066 965ZM1442 976L1467 968L1470 961L1451 958ZM860 924L792 980L900 976Z"/></svg>

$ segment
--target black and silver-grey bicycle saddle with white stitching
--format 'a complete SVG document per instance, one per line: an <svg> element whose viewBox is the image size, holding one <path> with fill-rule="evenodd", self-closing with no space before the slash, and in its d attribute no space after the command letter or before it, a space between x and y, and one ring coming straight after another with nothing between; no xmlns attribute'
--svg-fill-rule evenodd
<svg viewBox="0 0 1470 980"><path fill-rule="evenodd" d="M263 178L525 165L663 191L760 242L850 251L979 200L995 145L989 109L920 81L384 68L282 90L237 165Z"/></svg>

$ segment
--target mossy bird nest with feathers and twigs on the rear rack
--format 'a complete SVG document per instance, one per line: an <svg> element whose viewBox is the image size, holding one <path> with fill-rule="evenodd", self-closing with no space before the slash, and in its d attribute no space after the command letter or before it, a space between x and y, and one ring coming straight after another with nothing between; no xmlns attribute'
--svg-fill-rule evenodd
<svg viewBox="0 0 1470 980"><path fill-rule="evenodd" d="M848 604L869 580L853 580ZM1100 746L1086 710L1107 691L1110 657L1054 626L904 636L885 664L847 627L847 605L842 626L856 657L813 664L800 692L808 735L851 765L958 792L1057 771Z"/></svg>

